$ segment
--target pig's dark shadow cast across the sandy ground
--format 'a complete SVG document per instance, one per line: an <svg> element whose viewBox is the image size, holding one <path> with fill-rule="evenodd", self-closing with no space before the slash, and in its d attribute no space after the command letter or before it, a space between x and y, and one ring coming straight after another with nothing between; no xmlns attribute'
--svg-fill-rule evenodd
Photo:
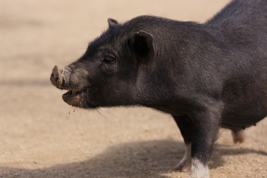
<svg viewBox="0 0 267 178"><path fill-rule="evenodd" d="M217 145L210 169L223 166L222 155L257 153L267 156L265 151L236 149ZM59 164L44 169L16 169L1 167L0 178L167 178L164 174L188 173L174 171L173 167L182 158L183 142L155 140L125 143L108 147L103 153L77 163Z"/></svg>

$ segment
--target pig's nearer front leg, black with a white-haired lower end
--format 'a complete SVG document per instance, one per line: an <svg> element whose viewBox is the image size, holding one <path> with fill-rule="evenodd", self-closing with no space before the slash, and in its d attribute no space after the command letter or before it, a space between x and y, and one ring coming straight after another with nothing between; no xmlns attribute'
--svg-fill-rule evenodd
<svg viewBox="0 0 267 178"><path fill-rule="evenodd" d="M209 178L207 163L219 132L223 103L215 102L195 111L190 117L193 122L191 144L192 166L189 178Z"/></svg>

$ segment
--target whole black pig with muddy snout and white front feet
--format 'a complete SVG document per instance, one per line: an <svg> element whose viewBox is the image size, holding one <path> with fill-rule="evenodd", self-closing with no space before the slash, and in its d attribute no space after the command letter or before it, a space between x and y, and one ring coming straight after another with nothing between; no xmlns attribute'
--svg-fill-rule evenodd
<svg viewBox="0 0 267 178"><path fill-rule="evenodd" d="M109 28L50 80L63 100L95 109L145 106L173 116L185 142L176 169L208 178L220 127L267 116L267 0L233 0L206 23L139 16ZM189 166L188 166L189 165Z"/></svg>

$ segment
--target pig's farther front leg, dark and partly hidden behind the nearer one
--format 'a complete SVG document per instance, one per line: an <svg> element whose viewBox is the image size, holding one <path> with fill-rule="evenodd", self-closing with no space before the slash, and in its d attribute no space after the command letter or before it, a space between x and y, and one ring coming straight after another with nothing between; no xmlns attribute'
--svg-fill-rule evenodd
<svg viewBox="0 0 267 178"><path fill-rule="evenodd" d="M189 172L191 169L191 142L193 135L193 125L187 115L173 117L181 132L185 144L184 156L175 166L175 169L180 170L182 172Z"/></svg>

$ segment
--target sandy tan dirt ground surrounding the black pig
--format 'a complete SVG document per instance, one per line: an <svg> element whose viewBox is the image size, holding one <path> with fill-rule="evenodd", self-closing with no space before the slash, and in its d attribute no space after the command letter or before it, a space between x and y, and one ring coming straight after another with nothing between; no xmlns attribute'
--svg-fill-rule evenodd
<svg viewBox="0 0 267 178"><path fill-rule="evenodd" d="M0 0L0 178L186 178L167 114L147 108L71 108L49 81L120 22L152 14L204 22L228 0ZM233 144L222 130L211 178L267 178L267 120Z"/></svg>

